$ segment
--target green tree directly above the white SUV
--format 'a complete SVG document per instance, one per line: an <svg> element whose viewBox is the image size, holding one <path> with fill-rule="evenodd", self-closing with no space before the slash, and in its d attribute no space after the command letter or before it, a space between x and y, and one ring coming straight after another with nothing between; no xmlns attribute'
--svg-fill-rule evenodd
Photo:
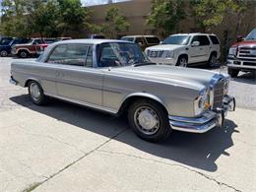
<svg viewBox="0 0 256 192"><path fill-rule="evenodd" d="M147 25L160 28L163 35L177 30L177 25L186 18L183 0L153 0Z"/></svg>

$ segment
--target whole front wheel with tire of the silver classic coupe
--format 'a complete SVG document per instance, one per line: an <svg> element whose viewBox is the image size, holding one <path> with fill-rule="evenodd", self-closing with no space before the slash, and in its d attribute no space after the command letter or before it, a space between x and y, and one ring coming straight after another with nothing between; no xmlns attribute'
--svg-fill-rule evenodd
<svg viewBox="0 0 256 192"><path fill-rule="evenodd" d="M129 108L128 119L133 131L150 142L159 142L171 133L167 112L151 99L135 101Z"/></svg>

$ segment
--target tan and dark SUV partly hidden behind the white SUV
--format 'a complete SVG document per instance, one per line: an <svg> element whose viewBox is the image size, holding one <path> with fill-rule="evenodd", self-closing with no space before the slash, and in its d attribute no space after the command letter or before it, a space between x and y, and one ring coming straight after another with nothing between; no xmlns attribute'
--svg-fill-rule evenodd
<svg viewBox="0 0 256 192"><path fill-rule="evenodd" d="M121 40L136 42L143 50L149 46L160 44L160 38L156 35L129 35L122 36Z"/></svg>

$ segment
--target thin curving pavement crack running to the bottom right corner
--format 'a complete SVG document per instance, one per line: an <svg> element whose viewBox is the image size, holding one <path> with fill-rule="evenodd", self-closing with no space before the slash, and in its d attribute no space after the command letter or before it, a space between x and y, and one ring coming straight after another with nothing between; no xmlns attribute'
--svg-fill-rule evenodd
<svg viewBox="0 0 256 192"><path fill-rule="evenodd" d="M122 155L122 156L126 156L126 157L130 157L130 158L136 158L136 159L140 159L140 160L150 160L150 161L154 161L154 162L158 162L158 163L162 163L162 164L166 164L166 165L170 165L170 166L178 166L178 167L182 167L182 168L185 168L191 172L194 172L196 174L199 174L203 177L205 177L206 179L208 180L211 180L211 181L214 181L215 183L217 183L219 186L225 186L227 188L230 188L236 192L241 192L241 190L239 189L236 189L235 187L231 186L231 185L228 185L224 182L221 182L221 181L218 181L217 179L207 175L207 174L204 174L200 171L197 171L195 169L192 169L192 168L189 168L187 166L184 166L182 164L175 164L175 163L168 163L168 162L164 162L164 161L160 161L160 160L152 160L152 159L147 159L147 158L142 158L140 156L135 156L135 155L130 155L130 154L125 154L125 153L119 153L119 152L110 152L110 151L104 151L104 150L97 150L97 152L101 152L101 153L106 153L106 154L111 154L111 155Z"/></svg>

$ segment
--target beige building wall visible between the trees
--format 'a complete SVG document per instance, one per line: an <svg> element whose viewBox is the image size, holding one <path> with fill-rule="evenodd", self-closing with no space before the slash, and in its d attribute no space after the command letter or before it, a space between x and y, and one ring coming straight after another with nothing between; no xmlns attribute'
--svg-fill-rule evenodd
<svg viewBox="0 0 256 192"><path fill-rule="evenodd" d="M255 4L254 4L255 5ZM122 3L114 3L107 5L92 6L90 9L93 11L91 15L91 23L100 25L104 24L105 12L111 6L119 8L121 14L125 16L130 23L130 29L128 32L122 32L125 34L157 34L160 36L160 29L155 29L146 25L146 19L151 11L151 0L133 0ZM200 32L195 26L194 17L189 12L189 2L187 7L188 17L186 20L180 22L177 32ZM222 25L208 29L208 32L216 33L222 41L223 53L227 51L228 46L236 39L236 25L237 18L234 16L225 17ZM239 34L246 35L256 28L256 7L252 6L250 10L247 10L243 20L241 21ZM160 36L164 37L164 36ZM227 47L227 48L226 48Z"/></svg>

